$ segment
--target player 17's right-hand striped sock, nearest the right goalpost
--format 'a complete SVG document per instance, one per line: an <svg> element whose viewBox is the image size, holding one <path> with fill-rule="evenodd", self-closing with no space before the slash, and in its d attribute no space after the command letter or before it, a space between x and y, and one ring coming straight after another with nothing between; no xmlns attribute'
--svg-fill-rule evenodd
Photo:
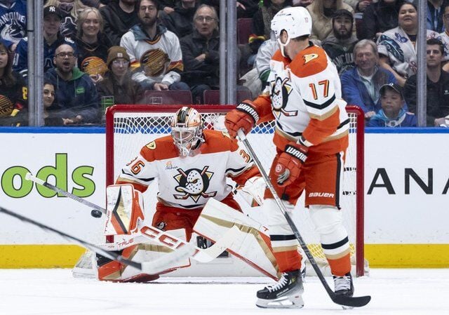
<svg viewBox="0 0 449 315"><path fill-rule="evenodd" d="M344 276L351 271L351 248L341 210L333 206L311 205L309 211L332 274Z"/></svg>

